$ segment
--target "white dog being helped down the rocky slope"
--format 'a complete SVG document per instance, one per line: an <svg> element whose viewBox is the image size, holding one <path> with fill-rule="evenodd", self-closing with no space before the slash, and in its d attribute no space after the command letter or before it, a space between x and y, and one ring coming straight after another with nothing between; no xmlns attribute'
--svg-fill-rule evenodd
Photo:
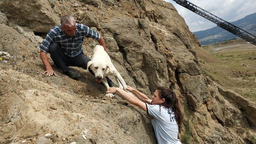
<svg viewBox="0 0 256 144"><path fill-rule="evenodd" d="M87 69L89 67L95 73L96 81L98 83L102 82L107 89L109 86L106 76L109 75L116 77L116 82L118 82L119 88L123 90L127 88L124 79L112 64L110 57L105 52L103 46L96 45L94 47L92 60L87 63ZM114 98L114 94L112 93L108 93L106 96Z"/></svg>

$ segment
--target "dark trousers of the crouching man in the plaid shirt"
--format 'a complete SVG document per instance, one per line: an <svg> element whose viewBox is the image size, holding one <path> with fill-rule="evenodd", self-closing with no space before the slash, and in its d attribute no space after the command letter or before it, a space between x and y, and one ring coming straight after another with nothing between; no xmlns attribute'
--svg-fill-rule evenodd
<svg viewBox="0 0 256 144"><path fill-rule="evenodd" d="M70 57L62 52L57 43L53 42L49 48L50 56L56 66L62 69L63 73L70 70L68 66L77 66L83 69L87 69L87 63L90 61L83 52L75 57ZM89 68L89 72L94 75L94 72Z"/></svg>

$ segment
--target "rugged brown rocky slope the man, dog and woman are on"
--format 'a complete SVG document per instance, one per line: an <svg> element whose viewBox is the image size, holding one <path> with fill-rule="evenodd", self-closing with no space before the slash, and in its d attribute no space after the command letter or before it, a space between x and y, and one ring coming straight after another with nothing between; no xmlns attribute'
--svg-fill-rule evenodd
<svg viewBox="0 0 256 144"><path fill-rule="evenodd" d="M0 4L0 51L12 56L0 60L0 143L157 143L146 112L119 96L106 98L106 89L86 70L73 68L82 74L79 80L56 67L58 76L42 75L45 69L37 49L42 38L34 33L48 32L59 24L58 16L67 13L100 32L128 85L148 96L158 86L176 92L182 110L189 109L184 115L190 122L190 143L255 142L255 104L202 74L194 52L200 44L171 4L160 0ZM84 41L84 53L90 57L97 43ZM84 130L91 132L87 140L81 134ZM42 137L47 133L52 135ZM179 138L184 143L185 135L182 126Z"/></svg>

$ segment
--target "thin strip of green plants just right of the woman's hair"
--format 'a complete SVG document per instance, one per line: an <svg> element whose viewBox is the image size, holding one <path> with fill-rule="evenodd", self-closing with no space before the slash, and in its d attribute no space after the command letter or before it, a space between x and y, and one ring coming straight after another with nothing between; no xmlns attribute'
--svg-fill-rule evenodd
<svg viewBox="0 0 256 144"><path fill-rule="evenodd" d="M182 140L183 140L184 144L190 144L192 133L191 133L191 130L190 130L190 114L189 114L188 104L187 104L186 100L184 102L184 110L185 110L185 116L184 116L185 133L182 136Z"/></svg>

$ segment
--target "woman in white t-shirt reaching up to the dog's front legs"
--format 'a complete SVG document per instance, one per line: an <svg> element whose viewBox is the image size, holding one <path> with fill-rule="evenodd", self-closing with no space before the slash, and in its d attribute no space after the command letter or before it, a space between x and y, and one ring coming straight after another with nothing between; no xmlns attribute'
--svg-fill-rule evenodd
<svg viewBox="0 0 256 144"><path fill-rule="evenodd" d="M152 125L158 144L181 144L178 132L181 129L182 115L174 91L158 87L150 100L145 94L130 86L126 90L134 93L140 100L120 88L108 88L107 93L118 92L128 102L153 116Z"/></svg>

